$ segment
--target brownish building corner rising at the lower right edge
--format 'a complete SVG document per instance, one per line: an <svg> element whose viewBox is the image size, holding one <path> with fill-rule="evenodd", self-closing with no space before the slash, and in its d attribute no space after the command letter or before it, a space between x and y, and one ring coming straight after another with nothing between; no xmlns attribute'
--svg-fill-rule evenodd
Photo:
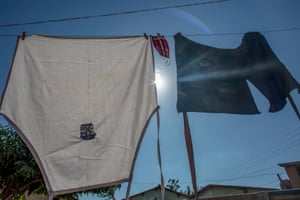
<svg viewBox="0 0 300 200"><path fill-rule="evenodd" d="M300 161L279 163L278 165L285 168L292 188L300 188Z"/></svg>

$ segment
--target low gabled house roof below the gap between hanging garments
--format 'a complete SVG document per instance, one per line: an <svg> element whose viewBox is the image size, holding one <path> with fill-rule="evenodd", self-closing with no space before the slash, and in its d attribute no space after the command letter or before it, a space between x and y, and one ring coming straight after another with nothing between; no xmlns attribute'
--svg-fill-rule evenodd
<svg viewBox="0 0 300 200"><path fill-rule="evenodd" d="M161 200L160 185L129 197L130 200ZM188 196L165 188L165 200L187 200Z"/></svg>

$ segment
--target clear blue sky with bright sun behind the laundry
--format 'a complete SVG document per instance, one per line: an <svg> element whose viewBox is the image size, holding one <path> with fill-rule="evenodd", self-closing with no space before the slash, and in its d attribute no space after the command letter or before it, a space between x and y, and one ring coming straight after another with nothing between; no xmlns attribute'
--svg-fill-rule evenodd
<svg viewBox="0 0 300 200"><path fill-rule="evenodd" d="M208 0L207 0L208 1ZM149 8L161 8L205 0L164 1L11 1L0 2L0 24L101 15ZM230 0L221 3L137 12L90 19L0 27L0 93L9 72L16 37L28 35L57 36L167 36L171 50L170 64L155 54L156 70L163 81L158 88L160 139L165 181L179 179L181 189L191 186L183 136L182 115L176 111L176 62L173 35L181 32L191 40L218 47L236 48L242 33L262 32L271 48L291 74L300 81L300 1ZM12 35L12 36L7 36ZM277 164L300 160L300 125L291 105L277 113L268 113L268 102L250 85L260 115L189 113L194 142L197 182L259 187L279 187L276 174L285 178ZM300 108L300 96L292 92ZM0 118L1 124L7 122ZM155 116L143 139L135 165L131 194L160 183L156 152ZM123 198L126 183L117 192ZM82 199L89 199L83 197Z"/></svg>

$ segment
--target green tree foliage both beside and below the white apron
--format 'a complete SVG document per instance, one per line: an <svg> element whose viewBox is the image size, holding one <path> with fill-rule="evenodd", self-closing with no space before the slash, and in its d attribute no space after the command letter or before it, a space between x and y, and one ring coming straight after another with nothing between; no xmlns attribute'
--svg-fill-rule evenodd
<svg viewBox="0 0 300 200"><path fill-rule="evenodd" d="M47 191L40 170L18 134L10 126L0 125L0 199L21 200L25 193L45 194ZM93 194L105 199L115 199L121 185L83 191L61 196L76 200L80 195Z"/></svg>

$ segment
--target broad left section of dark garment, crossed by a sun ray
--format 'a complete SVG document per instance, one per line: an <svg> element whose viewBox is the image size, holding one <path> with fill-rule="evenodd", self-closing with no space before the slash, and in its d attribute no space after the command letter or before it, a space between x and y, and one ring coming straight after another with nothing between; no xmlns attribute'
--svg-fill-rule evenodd
<svg viewBox="0 0 300 200"><path fill-rule="evenodd" d="M177 111L233 114L259 113L240 54L247 49L218 49L193 42L177 33ZM238 59L237 59L238 58Z"/></svg>

